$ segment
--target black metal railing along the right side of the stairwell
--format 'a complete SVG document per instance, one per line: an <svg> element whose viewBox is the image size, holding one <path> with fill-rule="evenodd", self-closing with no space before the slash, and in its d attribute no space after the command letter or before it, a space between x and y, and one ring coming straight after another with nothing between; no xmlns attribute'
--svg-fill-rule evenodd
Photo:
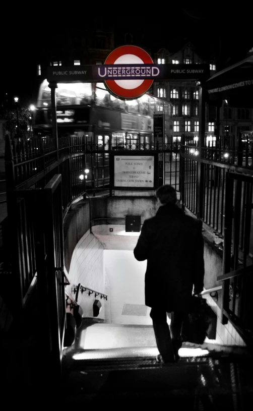
<svg viewBox="0 0 253 411"><path fill-rule="evenodd" d="M219 236L216 244L223 252L224 266L218 280L223 283L224 323L229 319L240 335L252 342L253 305L247 289L253 278L253 168L252 149L242 143L241 135L237 144L234 138L227 141L221 136L210 146L205 139L200 153L192 137L182 136L180 192L183 206L214 230L214 241ZM231 270L235 273L230 275Z"/></svg>

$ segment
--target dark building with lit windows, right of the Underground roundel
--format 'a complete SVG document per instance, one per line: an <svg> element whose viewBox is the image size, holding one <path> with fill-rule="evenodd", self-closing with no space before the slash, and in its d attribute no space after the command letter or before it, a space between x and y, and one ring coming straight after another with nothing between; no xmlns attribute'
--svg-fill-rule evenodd
<svg viewBox="0 0 253 411"><path fill-rule="evenodd" d="M211 76L216 73L216 61L203 60L194 49L193 44L187 43L176 52L161 48L154 54L156 64L209 64ZM199 137L199 85L192 81L155 82L154 94L167 98L173 103L173 140L180 140L184 133L196 141ZM217 123L216 107L206 104L205 134L207 143L215 145L216 136L223 135L231 142L233 136L237 140L241 131L252 130L253 117L251 108L230 107L226 100L220 108L220 121Z"/></svg>

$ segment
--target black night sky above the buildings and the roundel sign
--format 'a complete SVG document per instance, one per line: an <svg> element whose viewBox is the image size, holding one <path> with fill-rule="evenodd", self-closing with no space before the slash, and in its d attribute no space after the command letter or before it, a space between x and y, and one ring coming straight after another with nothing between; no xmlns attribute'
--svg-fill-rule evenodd
<svg viewBox="0 0 253 411"><path fill-rule="evenodd" d="M83 12L77 12L78 8L60 12L42 8L34 9L31 14L20 7L1 25L1 93L7 90L18 94L29 87L38 50L46 47L52 37L60 36L67 28L84 27L86 16L94 13L102 15L104 21L114 25L116 30L134 29L144 33L146 45L152 52L162 47L176 51L177 45L191 41L200 56L212 58L220 52L222 66L229 66L246 56L253 46L253 35L251 11L247 10L247 4L240 2L240 10L233 9L228 2L226 4L228 10L221 11L210 2L208 8L207 3L198 7L174 5L163 12L158 4L152 10L146 7L145 12L120 8L113 13L92 10L89 6Z"/></svg>

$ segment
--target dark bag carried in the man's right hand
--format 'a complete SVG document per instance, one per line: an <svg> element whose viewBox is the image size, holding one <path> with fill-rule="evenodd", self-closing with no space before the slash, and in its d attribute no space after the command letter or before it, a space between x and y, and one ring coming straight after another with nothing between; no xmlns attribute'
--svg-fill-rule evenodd
<svg viewBox="0 0 253 411"><path fill-rule="evenodd" d="M191 310L182 322L181 339L195 344L203 344L206 337L215 338L216 323L217 317L207 304L206 299L194 295L192 296Z"/></svg>

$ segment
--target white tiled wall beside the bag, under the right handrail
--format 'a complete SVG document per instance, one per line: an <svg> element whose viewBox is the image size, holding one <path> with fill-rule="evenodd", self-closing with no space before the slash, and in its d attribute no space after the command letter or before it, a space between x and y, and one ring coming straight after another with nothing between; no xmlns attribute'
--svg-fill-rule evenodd
<svg viewBox="0 0 253 411"><path fill-rule="evenodd" d="M217 306L215 301L210 297L209 294L204 296L208 304L213 308L217 315L217 330L216 330L216 339L210 340L205 339L205 342L222 344L222 345L236 345L236 346L245 346L245 342L239 336L238 332L232 326L230 322L223 325L221 324L221 309Z"/></svg>

